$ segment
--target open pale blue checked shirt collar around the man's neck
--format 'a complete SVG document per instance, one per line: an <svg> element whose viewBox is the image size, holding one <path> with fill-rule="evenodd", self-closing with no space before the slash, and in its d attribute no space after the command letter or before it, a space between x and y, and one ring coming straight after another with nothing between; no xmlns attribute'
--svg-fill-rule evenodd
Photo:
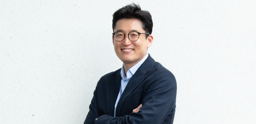
<svg viewBox="0 0 256 124"><path fill-rule="evenodd" d="M127 76L128 76L128 73L129 73L129 71L130 71L130 73L132 74L132 75L134 75L134 73L139 69L139 67L141 66L141 64L146 60L148 58L148 53L147 53L147 55L143 58L143 59L141 59L141 61L139 61L138 63L136 63L135 65L133 65L128 71L127 71ZM121 68L121 78L124 78L124 80L126 80L127 79L127 77L125 76L125 72L124 72L124 64L123 64L123 66L122 66L122 68Z"/></svg>

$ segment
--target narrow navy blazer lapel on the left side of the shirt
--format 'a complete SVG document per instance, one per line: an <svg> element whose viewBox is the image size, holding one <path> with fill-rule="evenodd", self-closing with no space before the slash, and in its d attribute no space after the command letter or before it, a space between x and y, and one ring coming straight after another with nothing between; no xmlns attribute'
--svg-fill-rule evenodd
<svg viewBox="0 0 256 124"><path fill-rule="evenodd" d="M110 110L111 115L114 117L114 111L115 111L115 102L117 100L117 96L120 91L120 85L121 85L121 75L120 71L117 72L117 76L113 79L111 79L110 82Z"/></svg>

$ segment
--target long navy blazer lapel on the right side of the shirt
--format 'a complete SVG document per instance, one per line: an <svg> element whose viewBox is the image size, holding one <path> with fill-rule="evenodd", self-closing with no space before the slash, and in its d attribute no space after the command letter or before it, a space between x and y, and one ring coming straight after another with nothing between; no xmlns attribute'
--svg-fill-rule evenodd
<svg viewBox="0 0 256 124"><path fill-rule="evenodd" d="M154 63L155 63L154 59L151 58L150 55L148 54L148 58L141 64L139 69L134 73L134 75L126 85L124 92L122 93L119 99L119 102L117 104L116 113L115 113L116 117L119 117L120 115L124 100L127 98L127 96L130 93L132 93L141 84L142 81L144 81L147 78L146 74L152 70ZM121 82L121 79L120 79L120 82ZM120 85L119 85L119 90L120 90Z"/></svg>

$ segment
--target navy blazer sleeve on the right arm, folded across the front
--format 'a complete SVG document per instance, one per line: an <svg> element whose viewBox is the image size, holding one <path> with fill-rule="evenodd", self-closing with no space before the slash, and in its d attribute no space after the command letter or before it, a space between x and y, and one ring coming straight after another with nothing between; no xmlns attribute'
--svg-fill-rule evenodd
<svg viewBox="0 0 256 124"><path fill-rule="evenodd" d="M169 113L175 111L177 85L174 75L163 70L149 82L150 88L142 99L137 113L124 117L101 115L95 124L161 124ZM125 106L123 106L125 107ZM174 113L173 113L174 114Z"/></svg>

